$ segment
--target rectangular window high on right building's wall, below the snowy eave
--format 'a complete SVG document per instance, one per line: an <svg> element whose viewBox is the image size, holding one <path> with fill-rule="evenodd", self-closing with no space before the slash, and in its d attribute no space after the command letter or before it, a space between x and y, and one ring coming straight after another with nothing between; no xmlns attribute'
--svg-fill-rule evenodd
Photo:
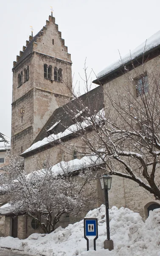
<svg viewBox="0 0 160 256"><path fill-rule="evenodd" d="M143 94L148 93L149 91L149 83L148 83L148 76L140 75L138 79L136 79L136 90L137 90L137 97L143 96Z"/></svg>

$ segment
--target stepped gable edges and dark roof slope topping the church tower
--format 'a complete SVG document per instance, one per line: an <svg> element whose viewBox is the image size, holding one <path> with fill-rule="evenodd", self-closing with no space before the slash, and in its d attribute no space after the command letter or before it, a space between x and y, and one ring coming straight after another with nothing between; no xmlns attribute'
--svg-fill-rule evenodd
<svg viewBox="0 0 160 256"><path fill-rule="evenodd" d="M20 51L20 55L17 55L17 60L13 62L13 69L14 67L16 67L22 60L24 60L31 52L34 51L34 44L37 44L37 42L39 41L39 39L42 37L42 35L44 34L45 30L47 29L48 24L52 22L53 24L55 24L55 17L53 16L49 16L49 20L46 20L46 25L43 26L43 28L33 37L33 36L29 36L29 40L26 41L26 46L23 46L23 50ZM65 46L65 40L62 39L61 37L61 32L58 30L58 25L55 24L55 26L57 27L57 31L59 34L59 38L61 40L61 43L63 46ZM65 48L67 49L67 47L65 46ZM68 53L69 54L69 53ZM69 54L70 55L70 54Z"/></svg>

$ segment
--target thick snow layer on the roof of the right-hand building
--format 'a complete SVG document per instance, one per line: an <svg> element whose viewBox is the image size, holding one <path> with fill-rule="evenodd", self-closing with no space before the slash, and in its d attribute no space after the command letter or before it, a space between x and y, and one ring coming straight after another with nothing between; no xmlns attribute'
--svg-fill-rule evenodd
<svg viewBox="0 0 160 256"><path fill-rule="evenodd" d="M145 52L153 49L160 45L160 30L136 47L134 50L126 54L124 57L120 58L118 61L110 64L105 67L101 72L98 73L97 79L100 79L102 76L109 74L110 72L116 70L118 67L124 66L131 60L138 58L140 55L143 55Z"/></svg>

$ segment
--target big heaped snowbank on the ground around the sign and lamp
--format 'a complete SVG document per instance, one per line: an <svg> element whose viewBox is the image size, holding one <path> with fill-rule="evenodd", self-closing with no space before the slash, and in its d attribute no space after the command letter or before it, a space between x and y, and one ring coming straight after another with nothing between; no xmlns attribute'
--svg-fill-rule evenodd
<svg viewBox="0 0 160 256"><path fill-rule="evenodd" d="M83 220L59 227L51 234L32 234L25 240L0 238L1 247L24 250L33 256L160 256L160 209L150 212L143 222L138 213L127 208L112 207L109 211L111 239L114 250L104 250L106 239L105 206L88 212L86 218L98 218L96 251L90 241L90 251L84 239Z"/></svg>

